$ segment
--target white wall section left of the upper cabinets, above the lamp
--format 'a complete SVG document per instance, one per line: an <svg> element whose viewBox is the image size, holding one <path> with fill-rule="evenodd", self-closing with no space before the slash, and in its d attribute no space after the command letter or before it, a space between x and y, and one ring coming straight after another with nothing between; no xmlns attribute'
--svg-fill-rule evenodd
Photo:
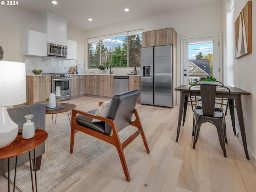
<svg viewBox="0 0 256 192"><path fill-rule="evenodd" d="M40 15L18 6L0 6L0 18L2 60L22 62L22 32L40 31Z"/></svg>

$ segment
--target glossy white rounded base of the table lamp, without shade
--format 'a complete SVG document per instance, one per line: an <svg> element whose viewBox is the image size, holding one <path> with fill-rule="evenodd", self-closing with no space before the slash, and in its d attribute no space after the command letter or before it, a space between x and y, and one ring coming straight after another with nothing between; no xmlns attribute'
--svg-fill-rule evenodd
<svg viewBox="0 0 256 192"><path fill-rule="evenodd" d="M19 126L12 121L6 107L0 107L0 148L13 142L19 131Z"/></svg>

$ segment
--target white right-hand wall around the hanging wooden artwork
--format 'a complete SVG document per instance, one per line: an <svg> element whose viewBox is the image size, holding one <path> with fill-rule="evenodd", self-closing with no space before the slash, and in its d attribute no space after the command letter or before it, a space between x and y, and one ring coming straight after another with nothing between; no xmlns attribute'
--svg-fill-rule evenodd
<svg viewBox="0 0 256 192"><path fill-rule="evenodd" d="M234 0L234 21L246 5L247 0ZM234 60L234 86L251 93L250 96L242 96L244 110L244 124L250 159L256 166L256 85L254 76L256 73L256 3L252 1L252 53ZM238 122L236 122L238 125Z"/></svg>

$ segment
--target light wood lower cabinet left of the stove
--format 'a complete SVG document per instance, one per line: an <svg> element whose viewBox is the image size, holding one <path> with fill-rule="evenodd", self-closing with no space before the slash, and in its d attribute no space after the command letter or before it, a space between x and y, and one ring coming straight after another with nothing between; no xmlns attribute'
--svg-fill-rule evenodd
<svg viewBox="0 0 256 192"><path fill-rule="evenodd" d="M26 104L42 102L52 91L52 76L26 76Z"/></svg>

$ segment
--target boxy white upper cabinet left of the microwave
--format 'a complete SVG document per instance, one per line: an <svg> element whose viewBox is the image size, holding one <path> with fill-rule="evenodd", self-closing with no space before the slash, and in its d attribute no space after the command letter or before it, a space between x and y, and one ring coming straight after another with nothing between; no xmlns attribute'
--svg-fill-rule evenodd
<svg viewBox="0 0 256 192"><path fill-rule="evenodd" d="M23 32L23 55L46 56L46 34L26 30Z"/></svg>

